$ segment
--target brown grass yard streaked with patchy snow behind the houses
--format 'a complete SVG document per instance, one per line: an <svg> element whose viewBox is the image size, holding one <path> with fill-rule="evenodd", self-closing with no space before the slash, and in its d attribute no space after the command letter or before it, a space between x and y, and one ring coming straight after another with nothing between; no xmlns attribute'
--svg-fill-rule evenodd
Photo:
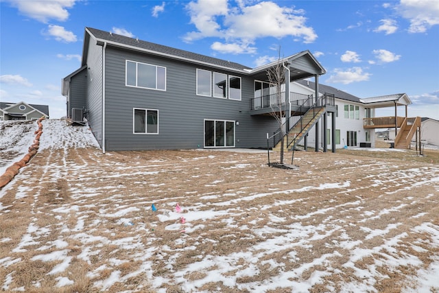
<svg viewBox="0 0 439 293"><path fill-rule="evenodd" d="M102 154L86 127L43 126L38 154L0 190L1 290L439 291L437 163L296 152L300 169L287 170L265 152ZM32 143L20 129L10 148L0 133L0 171Z"/></svg>

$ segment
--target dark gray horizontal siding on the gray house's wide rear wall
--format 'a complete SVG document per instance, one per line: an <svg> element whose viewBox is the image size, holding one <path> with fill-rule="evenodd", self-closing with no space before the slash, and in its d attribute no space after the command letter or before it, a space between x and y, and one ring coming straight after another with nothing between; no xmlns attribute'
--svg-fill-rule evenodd
<svg viewBox="0 0 439 293"><path fill-rule="evenodd" d="M126 60L166 67L166 91L125 85ZM236 148L266 148L266 133L276 130L270 116L249 114L254 82L241 77L241 101L196 95L196 69L190 63L106 49L106 150L195 149L204 146L204 119L239 121ZM158 134L133 134L133 108L158 110ZM272 145L270 145L272 146Z"/></svg>

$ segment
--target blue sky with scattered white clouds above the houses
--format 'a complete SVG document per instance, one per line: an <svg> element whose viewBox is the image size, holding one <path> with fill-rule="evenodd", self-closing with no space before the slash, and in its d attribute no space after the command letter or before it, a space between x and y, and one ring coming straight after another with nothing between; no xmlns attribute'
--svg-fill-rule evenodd
<svg viewBox="0 0 439 293"><path fill-rule="evenodd" d="M66 115L61 80L94 27L249 67L309 49L322 84L362 98L407 93L410 117L439 120L437 0L0 0L0 13L0 101L47 104L51 118Z"/></svg>

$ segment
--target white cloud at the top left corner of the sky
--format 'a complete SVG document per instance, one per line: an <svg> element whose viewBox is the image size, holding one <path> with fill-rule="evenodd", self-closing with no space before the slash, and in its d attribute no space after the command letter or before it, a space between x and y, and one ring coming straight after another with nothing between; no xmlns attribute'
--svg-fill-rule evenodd
<svg viewBox="0 0 439 293"><path fill-rule="evenodd" d="M72 8L76 0L9 0L10 3L19 9L19 12L42 23L47 23L50 19L57 21L67 21L69 12L67 8Z"/></svg>

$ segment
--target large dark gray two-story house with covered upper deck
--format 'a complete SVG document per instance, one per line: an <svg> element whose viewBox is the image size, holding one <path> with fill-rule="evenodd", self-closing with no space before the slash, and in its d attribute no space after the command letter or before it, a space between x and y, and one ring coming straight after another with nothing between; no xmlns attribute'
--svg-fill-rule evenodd
<svg viewBox="0 0 439 293"><path fill-rule="evenodd" d="M62 79L62 94L67 117L86 119L104 152L267 148L279 128L267 70L280 63L290 82L313 78L318 97L325 70L309 51L252 69L86 27L81 67ZM288 84L285 121L299 113Z"/></svg>

